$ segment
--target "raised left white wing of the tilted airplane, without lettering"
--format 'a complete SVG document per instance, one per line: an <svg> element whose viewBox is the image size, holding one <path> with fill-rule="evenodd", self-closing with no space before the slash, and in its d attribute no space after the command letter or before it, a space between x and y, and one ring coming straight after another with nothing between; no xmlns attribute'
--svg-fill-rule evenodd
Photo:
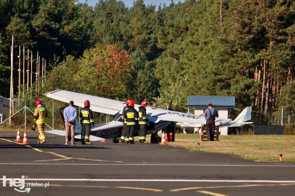
<svg viewBox="0 0 295 196"><path fill-rule="evenodd" d="M118 112L122 112L126 102L120 102L103 97L96 97L93 95L87 95L82 93L76 93L65 90L55 90L44 94L46 97L56 99L62 102L69 103L74 102L74 105L84 107L84 101L90 101L90 108L94 112L100 112L104 114L115 115Z"/></svg>

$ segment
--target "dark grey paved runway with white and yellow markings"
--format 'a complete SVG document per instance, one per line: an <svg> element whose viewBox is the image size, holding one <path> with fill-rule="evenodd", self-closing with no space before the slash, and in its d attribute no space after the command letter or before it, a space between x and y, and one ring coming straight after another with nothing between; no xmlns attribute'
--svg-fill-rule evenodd
<svg viewBox="0 0 295 196"><path fill-rule="evenodd" d="M14 142L15 135L0 132L0 176L24 176L25 185L49 187L22 193L14 190L21 187L6 182L6 187L0 185L0 195L294 195L291 163L111 140L66 146L63 136L48 133L47 143L37 144L36 132L28 132L29 145L22 145Z"/></svg>

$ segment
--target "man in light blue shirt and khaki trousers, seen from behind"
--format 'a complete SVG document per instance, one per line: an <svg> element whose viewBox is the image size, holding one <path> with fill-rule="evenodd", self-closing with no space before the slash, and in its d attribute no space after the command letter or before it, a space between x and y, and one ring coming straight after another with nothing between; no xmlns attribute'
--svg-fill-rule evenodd
<svg viewBox="0 0 295 196"><path fill-rule="evenodd" d="M77 109L74 108L74 102L70 101L69 107L66 107L63 111L63 116L65 117L65 145L68 145L68 135L71 130L71 143L75 144L75 126L76 126L76 117Z"/></svg>

